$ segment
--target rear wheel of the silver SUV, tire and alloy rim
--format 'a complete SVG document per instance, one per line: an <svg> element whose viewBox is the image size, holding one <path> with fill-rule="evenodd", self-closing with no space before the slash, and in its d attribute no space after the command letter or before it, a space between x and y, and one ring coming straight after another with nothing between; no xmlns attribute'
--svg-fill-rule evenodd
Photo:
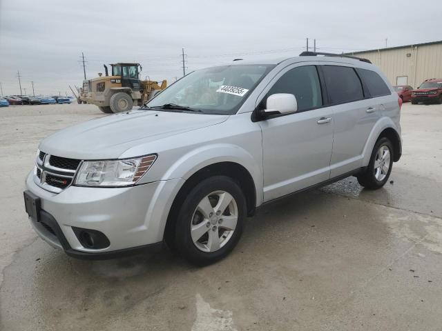
<svg viewBox="0 0 442 331"><path fill-rule="evenodd" d="M382 137L374 145L367 169L357 176L358 182L369 190L377 190L387 183L393 168L393 145Z"/></svg>

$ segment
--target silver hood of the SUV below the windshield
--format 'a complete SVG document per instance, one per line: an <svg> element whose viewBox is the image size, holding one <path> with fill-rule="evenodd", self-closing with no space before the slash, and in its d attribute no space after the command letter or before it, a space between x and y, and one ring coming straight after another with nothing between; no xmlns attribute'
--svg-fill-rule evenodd
<svg viewBox="0 0 442 331"><path fill-rule="evenodd" d="M142 143L213 126L228 118L228 115L133 110L56 132L41 141L39 149L71 159L117 159L124 151Z"/></svg>

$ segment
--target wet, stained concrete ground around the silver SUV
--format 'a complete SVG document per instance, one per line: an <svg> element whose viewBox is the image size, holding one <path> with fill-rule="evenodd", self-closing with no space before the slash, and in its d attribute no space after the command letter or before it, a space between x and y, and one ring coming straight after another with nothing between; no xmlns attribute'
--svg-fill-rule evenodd
<svg viewBox="0 0 442 331"><path fill-rule="evenodd" d="M402 108L391 182L349 178L271 203L232 254L80 261L32 231L38 142L94 106L0 109L0 330L442 330L442 106Z"/></svg>

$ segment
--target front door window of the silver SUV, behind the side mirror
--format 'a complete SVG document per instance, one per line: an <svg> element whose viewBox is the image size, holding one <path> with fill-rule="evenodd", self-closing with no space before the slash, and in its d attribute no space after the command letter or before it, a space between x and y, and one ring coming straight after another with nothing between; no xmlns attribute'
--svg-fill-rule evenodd
<svg viewBox="0 0 442 331"><path fill-rule="evenodd" d="M298 112L323 106L318 70L315 66L297 67L287 71L271 87L267 97L276 93L294 94L298 102Z"/></svg>

